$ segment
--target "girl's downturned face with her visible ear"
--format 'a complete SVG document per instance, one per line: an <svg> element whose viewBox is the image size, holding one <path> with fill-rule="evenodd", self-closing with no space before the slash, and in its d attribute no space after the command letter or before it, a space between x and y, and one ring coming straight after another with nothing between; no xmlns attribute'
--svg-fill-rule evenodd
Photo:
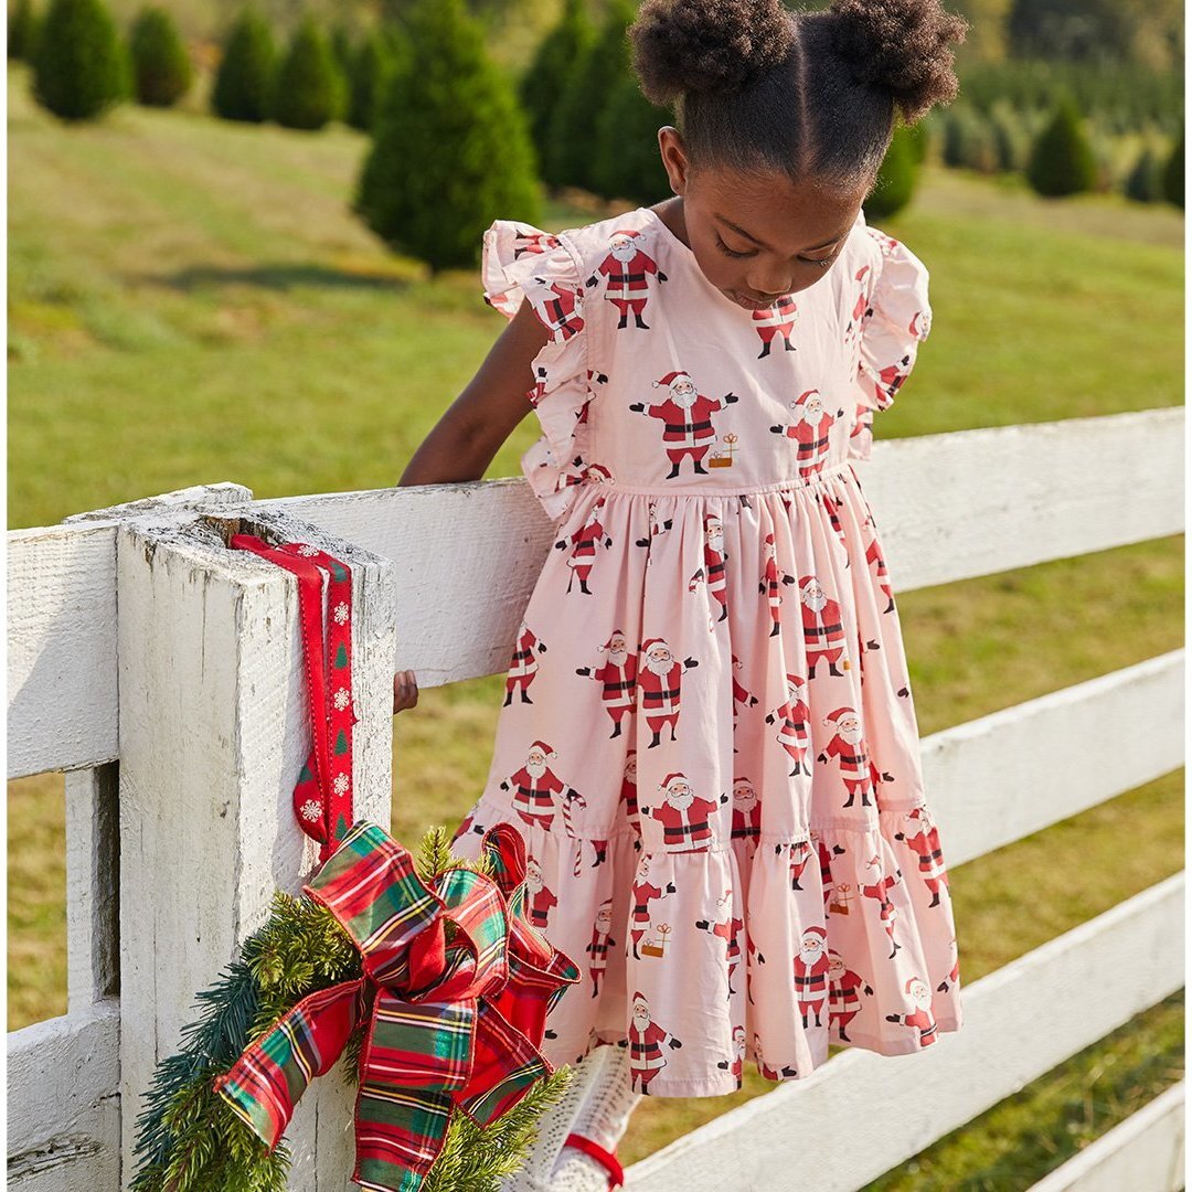
<svg viewBox="0 0 1192 1192"><path fill-rule="evenodd" d="M842 195L782 175L693 172L666 125L658 144L671 188L682 195L682 237L707 279L738 305L772 306L832 267L868 190Z"/></svg>

